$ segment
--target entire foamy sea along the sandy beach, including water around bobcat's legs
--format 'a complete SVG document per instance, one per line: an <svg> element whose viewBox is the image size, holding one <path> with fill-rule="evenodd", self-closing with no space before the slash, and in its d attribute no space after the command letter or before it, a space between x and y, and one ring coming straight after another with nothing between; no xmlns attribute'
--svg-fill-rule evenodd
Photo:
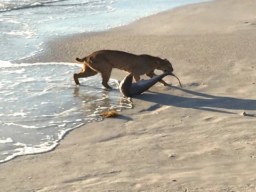
<svg viewBox="0 0 256 192"><path fill-rule="evenodd" d="M132 107L117 89L107 91L99 75L75 86L72 74L81 64L22 59L41 54L44 43L59 36L107 30L199 2L205 0L0 0L0 163L52 150L68 131L101 121L100 113ZM115 87L115 79L109 84Z"/></svg>

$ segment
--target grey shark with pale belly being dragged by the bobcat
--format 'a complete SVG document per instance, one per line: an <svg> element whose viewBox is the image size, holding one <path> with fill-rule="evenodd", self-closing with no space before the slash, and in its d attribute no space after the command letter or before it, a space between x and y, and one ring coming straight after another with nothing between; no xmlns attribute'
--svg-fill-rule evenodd
<svg viewBox="0 0 256 192"><path fill-rule="evenodd" d="M138 95L147 91L151 86L155 85L158 81L160 81L162 78L164 78L167 75L176 77L172 72L166 71L165 73L161 75L156 75L150 79L141 79L136 83L132 83L133 75L132 73L130 73L126 75L124 79L119 83L118 88L120 92L126 97L132 97L133 95ZM178 77L176 78L178 79ZM180 86L181 86L181 83L180 83Z"/></svg>

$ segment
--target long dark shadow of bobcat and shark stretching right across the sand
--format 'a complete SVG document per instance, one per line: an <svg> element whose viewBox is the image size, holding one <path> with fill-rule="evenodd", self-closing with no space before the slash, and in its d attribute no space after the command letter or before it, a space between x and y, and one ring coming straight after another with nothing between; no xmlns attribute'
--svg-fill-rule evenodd
<svg viewBox="0 0 256 192"><path fill-rule="evenodd" d="M182 96L165 94L165 93L158 93L153 91L148 91L148 92L154 93L154 94L143 93L142 95L134 96L134 98L158 103L160 105L199 109L199 110L226 113L226 114L237 114L237 113L230 112L223 109L244 110L244 111L256 110L256 100L253 100L253 99L238 99L233 97L214 96L210 94L181 89L180 87L176 87L176 86L170 86L170 87L177 90L181 90L183 92L186 92L192 95L196 95L198 97L203 97L203 98L189 98L189 97L182 97ZM256 117L251 114L247 114L246 116Z"/></svg>

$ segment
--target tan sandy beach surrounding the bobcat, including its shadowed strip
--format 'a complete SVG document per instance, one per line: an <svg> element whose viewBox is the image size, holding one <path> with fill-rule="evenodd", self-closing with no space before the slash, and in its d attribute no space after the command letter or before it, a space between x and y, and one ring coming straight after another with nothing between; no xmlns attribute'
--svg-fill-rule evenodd
<svg viewBox="0 0 256 192"><path fill-rule="evenodd" d="M255 10L255 0L186 5L49 42L30 62L73 62L99 49L147 53L169 59L184 89L167 76L172 87L156 84L119 118L1 164L0 191L256 191Z"/></svg>

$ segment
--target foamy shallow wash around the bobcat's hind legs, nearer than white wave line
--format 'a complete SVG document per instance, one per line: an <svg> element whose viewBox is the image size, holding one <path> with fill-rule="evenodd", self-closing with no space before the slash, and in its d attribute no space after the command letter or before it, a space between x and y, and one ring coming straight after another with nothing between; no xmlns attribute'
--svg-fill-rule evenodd
<svg viewBox="0 0 256 192"><path fill-rule="evenodd" d="M109 109L132 108L131 100L117 88L106 90L99 75L75 86L73 71L81 69L76 63L2 65L0 162L8 156L51 150L66 131L101 121L100 114ZM115 79L109 84L116 87Z"/></svg>

